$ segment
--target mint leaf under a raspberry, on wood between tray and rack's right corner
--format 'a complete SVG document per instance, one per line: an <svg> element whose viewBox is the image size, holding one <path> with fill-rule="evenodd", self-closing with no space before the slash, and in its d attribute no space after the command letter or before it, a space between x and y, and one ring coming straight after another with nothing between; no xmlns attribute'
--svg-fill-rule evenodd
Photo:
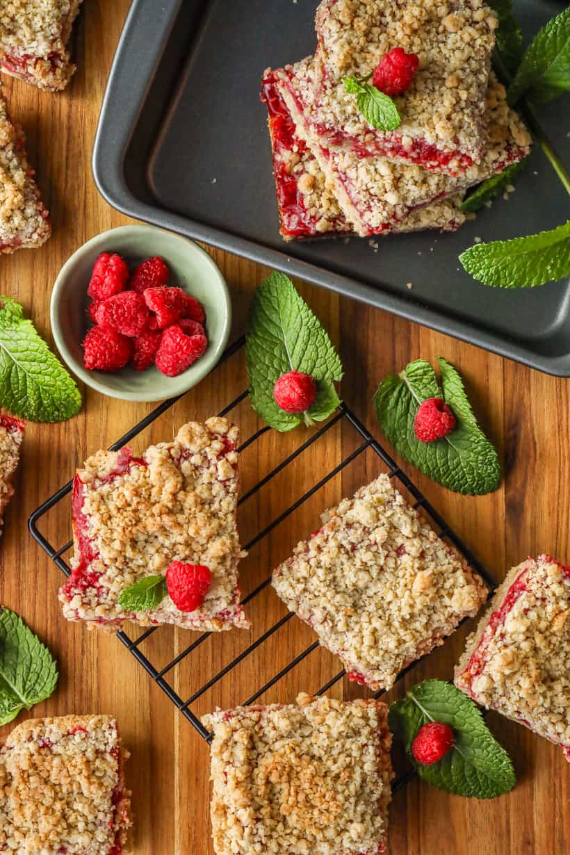
<svg viewBox="0 0 570 855"><path fill-rule="evenodd" d="M441 389L425 359L382 380L374 396L379 426L406 460L438 484L469 495L492 492L501 480L497 451L477 424L460 374L442 357L438 364ZM415 414L426 398L443 398L456 420L451 433L433 442L420 442L414 433Z"/></svg>

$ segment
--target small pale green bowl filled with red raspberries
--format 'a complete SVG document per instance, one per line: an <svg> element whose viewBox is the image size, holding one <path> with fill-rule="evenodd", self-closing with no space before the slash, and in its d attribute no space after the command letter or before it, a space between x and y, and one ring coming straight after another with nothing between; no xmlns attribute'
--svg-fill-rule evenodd
<svg viewBox="0 0 570 855"><path fill-rule="evenodd" d="M51 295L56 345L74 374L113 398L158 401L209 373L231 304L207 252L179 234L123 226L79 247Z"/></svg>

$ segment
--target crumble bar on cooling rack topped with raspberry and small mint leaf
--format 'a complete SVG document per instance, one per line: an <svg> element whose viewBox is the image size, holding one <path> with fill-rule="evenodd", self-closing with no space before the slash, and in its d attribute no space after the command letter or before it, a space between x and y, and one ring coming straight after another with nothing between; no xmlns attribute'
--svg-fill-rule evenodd
<svg viewBox="0 0 570 855"><path fill-rule="evenodd" d="M60 590L63 615L109 630L131 620L186 629L248 628L239 604L238 428L214 417L189 422L173 442L142 457L129 448L97 451L73 480L72 572ZM209 568L203 604L179 610L170 597L126 611L121 591L173 561Z"/></svg>

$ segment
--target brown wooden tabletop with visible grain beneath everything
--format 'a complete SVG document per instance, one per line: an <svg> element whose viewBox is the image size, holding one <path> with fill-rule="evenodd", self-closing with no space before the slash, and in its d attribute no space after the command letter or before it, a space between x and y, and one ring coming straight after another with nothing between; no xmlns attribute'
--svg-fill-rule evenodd
<svg viewBox="0 0 570 855"><path fill-rule="evenodd" d="M127 8L128 0L87 0L76 34L79 69L63 94L42 93L3 77L10 109L26 130L28 152L38 170L54 232L42 249L2 258L0 292L21 301L48 339L50 291L62 263L92 235L127 221L98 195L90 168L99 105ZM223 252L212 254L232 290L237 334L243 329L250 296L267 270ZM502 486L485 497L462 497L423 478L407 463L403 469L497 579L529 554L545 551L570 561L568 381L539 374L331 292L299 285L344 358L345 400L377 435L372 397L385 374L402 369L414 358L432 360L440 354L461 370L482 426L500 449ZM233 357L136 440L135 448L172 439L180 424L214 414L245 386L243 358ZM38 705L33 716L72 712L117 716L132 752L127 775L135 814L133 851L137 855L209 855L206 744L120 642L63 621L57 602L62 575L27 533L26 520L32 510L73 475L76 465L117 439L151 409L150 405L124 404L84 392L84 408L71 422L30 424L27 428L16 496L6 515L0 551L1 601L21 614L60 663L56 693ZM258 427L247 402L240 405L235 418L244 437ZM267 433L252 445L244 454L244 489L303 439L306 433L301 428L289 435ZM303 458L244 504L240 519L244 542L354 447L350 428L339 427L312 445ZM275 528L271 538L254 547L242 565L245 592L316 527L320 510L379 471L379 463L365 454ZM43 523L44 533L58 545L68 540L70 531L69 506L63 505ZM182 696L189 697L214 669L284 616L285 608L273 592L266 591L256 598L249 613L251 632L216 636L175 669L171 679ZM422 663L406 683L412 685L426 676L449 678L466 629ZM188 643L188 637L163 628L144 644L144 652L159 665L167 663ZM256 655L205 693L195 709L203 713L215 705L243 701L313 640L309 628L293 618ZM334 657L314 652L263 699L291 701L300 690L316 690L338 667ZM398 685L392 695L396 697L403 688ZM352 698L363 692L340 681L332 693ZM514 792L486 802L453 797L417 781L409 783L391 805L392 855L570 852L570 764L559 749L525 728L495 715L489 716L489 722L514 758L519 778ZM3 728L0 735L4 737L8 730Z"/></svg>

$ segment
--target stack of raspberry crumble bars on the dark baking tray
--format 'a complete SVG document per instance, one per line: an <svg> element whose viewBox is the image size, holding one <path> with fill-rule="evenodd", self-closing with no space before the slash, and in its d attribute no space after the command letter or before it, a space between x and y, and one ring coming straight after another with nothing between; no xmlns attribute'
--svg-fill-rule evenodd
<svg viewBox="0 0 570 855"><path fill-rule="evenodd" d="M314 56L262 81L285 240L461 226L467 188L531 144L491 72L496 26L481 0L322 0ZM366 80L397 47L420 66L394 97L399 127L380 131L344 79Z"/></svg>

